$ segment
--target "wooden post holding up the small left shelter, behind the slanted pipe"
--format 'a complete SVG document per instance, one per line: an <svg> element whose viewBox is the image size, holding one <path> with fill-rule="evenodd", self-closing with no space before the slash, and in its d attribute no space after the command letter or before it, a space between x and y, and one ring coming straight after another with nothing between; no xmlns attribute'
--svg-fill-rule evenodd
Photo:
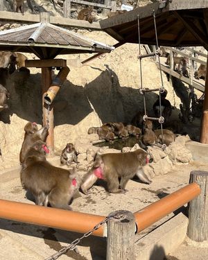
<svg viewBox="0 0 208 260"><path fill-rule="evenodd" d="M49 122L49 135L46 139L46 145L49 147L49 155L54 155L54 133L53 133L53 105L46 105L44 103L44 96L51 86L51 68L42 68L42 112L43 112L43 125ZM49 110L50 109L50 110Z"/></svg>

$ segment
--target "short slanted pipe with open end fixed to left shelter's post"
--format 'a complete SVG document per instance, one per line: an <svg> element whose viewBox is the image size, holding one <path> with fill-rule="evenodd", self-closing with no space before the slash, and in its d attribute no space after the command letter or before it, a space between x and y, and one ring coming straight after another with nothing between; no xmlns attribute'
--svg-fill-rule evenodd
<svg viewBox="0 0 208 260"><path fill-rule="evenodd" d="M58 93L62 83L67 78L67 75L69 73L68 67L62 67L60 69L58 75L53 80L51 87L47 90L47 92L44 94L44 102L48 105L51 105L53 102L53 99L55 98L56 94Z"/></svg>

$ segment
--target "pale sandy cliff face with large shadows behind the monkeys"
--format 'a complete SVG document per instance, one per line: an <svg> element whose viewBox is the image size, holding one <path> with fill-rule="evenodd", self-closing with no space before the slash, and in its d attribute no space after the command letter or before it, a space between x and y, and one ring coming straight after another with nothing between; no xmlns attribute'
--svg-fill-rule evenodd
<svg viewBox="0 0 208 260"><path fill-rule="evenodd" d="M43 1L46 2L46 1ZM115 44L109 35L97 31L78 30L78 33L105 44ZM144 49L142 49L144 51ZM68 142L87 137L91 126L107 121L129 123L133 116L144 110L143 96L139 94L140 73L137 60L138 44L124 44L96 60L81 65L92 54L62 55L70 72L54 101L55 151L60 152ZM34 54L24 53L29 59ZM160 87L160 75L151 58L142 62L143 87ZM58 71L54 71L57 74ZM172 105L179 100L163 74L164 87ZM9 110L1 112L0 144L3 157L0 169L19 163L19 150L27 121L42 124L41 70L31 69L31 76L24 78L19 71L12 73L6 88L11 94ZM157 94L148 93L146 100L149 114ZM174 102L173 102L174 101Z"/></svg>

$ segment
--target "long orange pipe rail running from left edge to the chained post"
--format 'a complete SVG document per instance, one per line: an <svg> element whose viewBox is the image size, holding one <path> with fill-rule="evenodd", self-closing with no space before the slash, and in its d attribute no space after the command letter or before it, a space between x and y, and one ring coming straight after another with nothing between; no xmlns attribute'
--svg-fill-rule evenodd
<svg viewBox="0 0 208 260"><path fill-rule="evenodd" d="M0 218L85 234L104 220L105 216L0 200ZM92 234L103 236L103 230L102 226Z"/></svg>

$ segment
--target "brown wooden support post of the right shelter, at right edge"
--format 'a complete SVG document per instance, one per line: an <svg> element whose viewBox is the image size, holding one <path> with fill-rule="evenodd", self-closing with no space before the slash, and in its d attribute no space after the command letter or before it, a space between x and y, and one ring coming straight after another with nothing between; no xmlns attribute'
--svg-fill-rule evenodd
<svg viewBox="0 0 208 260"><path fill-rule="evenodd" d="M208 57L207 57L207 75L208 75ZM205 81L205 100L203 104L200 143L208 144L208 76Z"/></svg>

